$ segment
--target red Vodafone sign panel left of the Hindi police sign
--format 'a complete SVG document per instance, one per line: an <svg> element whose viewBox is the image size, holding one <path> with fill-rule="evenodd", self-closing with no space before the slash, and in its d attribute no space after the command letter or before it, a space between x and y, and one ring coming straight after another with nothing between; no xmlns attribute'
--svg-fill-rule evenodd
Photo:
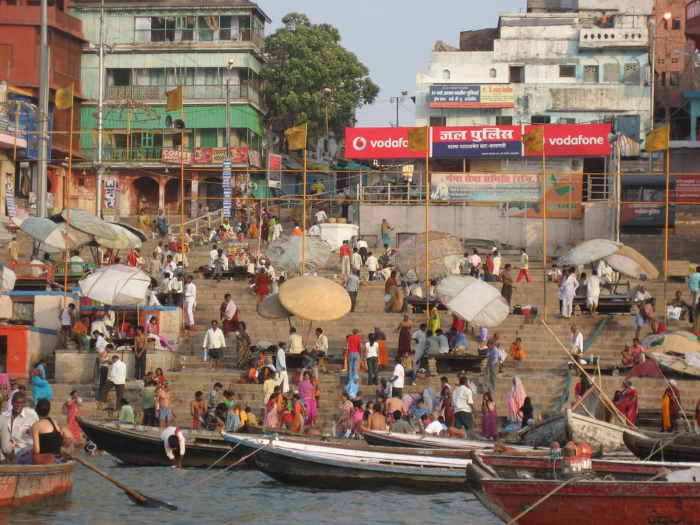
<svg viewBox="0 0 700 525"><path fill-rule="evenodd" d="M426 151L410 151L408 130L414 127L346 127L345 157L349 159L419 159Z"/></svg>

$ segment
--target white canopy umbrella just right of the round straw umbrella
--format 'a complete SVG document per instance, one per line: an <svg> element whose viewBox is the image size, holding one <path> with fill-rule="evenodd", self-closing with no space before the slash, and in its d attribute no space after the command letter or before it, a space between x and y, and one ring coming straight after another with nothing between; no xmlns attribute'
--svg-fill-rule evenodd
<svg viewBox="0 0 700 525"><path fill-rule="evenodd" d="M510 307L498 290L469 276L448 276L437 285L442 304L470 323L493 328L503 323Z"/></svg>

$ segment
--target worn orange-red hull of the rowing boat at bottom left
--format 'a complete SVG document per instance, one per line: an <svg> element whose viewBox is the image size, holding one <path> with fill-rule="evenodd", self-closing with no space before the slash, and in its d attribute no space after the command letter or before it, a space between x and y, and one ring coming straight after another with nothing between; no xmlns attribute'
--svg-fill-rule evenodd
<svg viewBox="0 0 700 525"><path fill-rule="evenodd" d="M0 465L0 506L56 505L73 490L77 463L55 465Z"/></svg>

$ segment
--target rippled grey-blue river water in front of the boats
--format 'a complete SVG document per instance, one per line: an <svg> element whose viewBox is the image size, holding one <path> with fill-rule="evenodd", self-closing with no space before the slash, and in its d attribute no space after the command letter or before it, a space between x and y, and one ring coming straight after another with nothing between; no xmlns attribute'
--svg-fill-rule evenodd
<svg viewBox="0 0 700 525"><path fill-rule="evenodd" d="M209 525L300 523L425 525L500 523L468 491L420 494L383 491L322 491L274 481L257 470L232 470L188 488L215 470L130 467L108 455L87 457L125 485L178 505L179 510L134 505L116 486L78 465L73 498L61 508L0 509L12 525Z"/></svg>

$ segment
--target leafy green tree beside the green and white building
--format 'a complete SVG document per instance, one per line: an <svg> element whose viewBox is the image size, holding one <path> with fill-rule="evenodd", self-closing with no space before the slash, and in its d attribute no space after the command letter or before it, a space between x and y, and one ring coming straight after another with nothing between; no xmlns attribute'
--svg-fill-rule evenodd
<svg viewBox="0 0 700 525"><path fill-rule="evenodd" d="M339 31L311 24L301 13L282 18L283 27L265 38L267 123L275 134L308 123L309 139L355 124L355 110L372 104L379 87L370 70L340 45Z"/></svg>

